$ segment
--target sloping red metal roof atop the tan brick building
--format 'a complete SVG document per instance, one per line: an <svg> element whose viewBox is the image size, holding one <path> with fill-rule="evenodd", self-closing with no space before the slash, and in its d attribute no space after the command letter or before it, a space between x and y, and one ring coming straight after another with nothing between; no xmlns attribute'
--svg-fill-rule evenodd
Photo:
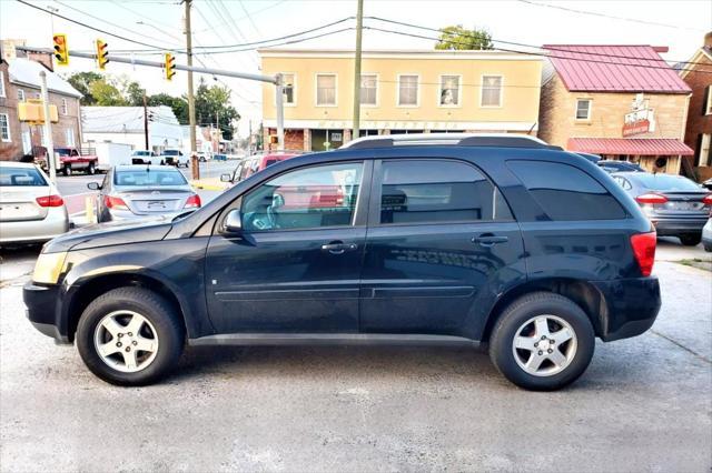
<svg viewBox="0 0 712 473"><path fill-rule="evenodd" d="M570 91L690 93L652 46L545 44Z"/></svg>

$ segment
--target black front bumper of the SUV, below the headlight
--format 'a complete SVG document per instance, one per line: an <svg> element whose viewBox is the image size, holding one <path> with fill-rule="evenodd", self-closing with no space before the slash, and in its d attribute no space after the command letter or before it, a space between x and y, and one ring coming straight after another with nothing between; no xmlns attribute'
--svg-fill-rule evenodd
<svg viewBox="0 0 712 473"><path fill-rule="evenodd" d="M22 300L27 318L38 331L57 343L71 343L67 323L60 318L59 290L58 285L38 285L30 281L22 288Z"/></svg>

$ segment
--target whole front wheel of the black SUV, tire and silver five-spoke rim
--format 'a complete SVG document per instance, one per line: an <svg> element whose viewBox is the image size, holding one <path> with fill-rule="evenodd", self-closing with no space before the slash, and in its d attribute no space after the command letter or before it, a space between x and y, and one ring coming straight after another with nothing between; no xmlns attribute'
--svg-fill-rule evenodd
<svg viewBox="0 0 712 473"><path fill-rule="evenodd" d="M105 321L109 322L105 325ZM137 321L140 325L134 324ZM130 332L131 328L138 328L136 333ZM185 330L172 306L159 294L142 288L119 288L87 306L79 319L76 338L79 354L93 374L111 384L139 386L154 383L171 371L182 353ZM99 344L116 352L102 356ZM128 364L131 346L147 349L134 349L134 366Z"/></svg>

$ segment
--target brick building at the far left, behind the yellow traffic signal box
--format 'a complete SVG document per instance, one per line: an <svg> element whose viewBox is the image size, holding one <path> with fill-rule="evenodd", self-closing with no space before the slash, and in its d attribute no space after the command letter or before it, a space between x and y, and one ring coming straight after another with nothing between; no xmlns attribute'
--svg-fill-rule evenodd
<svg viewBox="0 0 712 473"><path fill-rule="evenodd" d="M81 93L52 71L49 56L0 58L0 160L18 160L44 144L43 128L20 122L18 118L18 103L40 98L41 70L47 71L49 101L59 114L59 122L52 123L53 144L79 147L81 143Z"/></svg>

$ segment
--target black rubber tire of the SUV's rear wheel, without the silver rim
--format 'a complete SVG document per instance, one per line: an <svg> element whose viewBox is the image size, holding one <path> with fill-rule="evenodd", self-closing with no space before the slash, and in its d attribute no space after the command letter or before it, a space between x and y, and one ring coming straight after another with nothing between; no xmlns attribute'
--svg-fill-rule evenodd
<svg viewBox="0 0 712 473"><path fill-rule="evenodd" d="M522 324L544 314L556 315L568 322L576 334L577 348L574 360L564 371L551 376L535 376L517 364L512 341ZM504 311L492 334L490 355L500 372L514 384L527 390L553 391L571 384L586 371L594 348L593 326L578 305L558 294L536 293L535 296L515 301Z"/></svg>

